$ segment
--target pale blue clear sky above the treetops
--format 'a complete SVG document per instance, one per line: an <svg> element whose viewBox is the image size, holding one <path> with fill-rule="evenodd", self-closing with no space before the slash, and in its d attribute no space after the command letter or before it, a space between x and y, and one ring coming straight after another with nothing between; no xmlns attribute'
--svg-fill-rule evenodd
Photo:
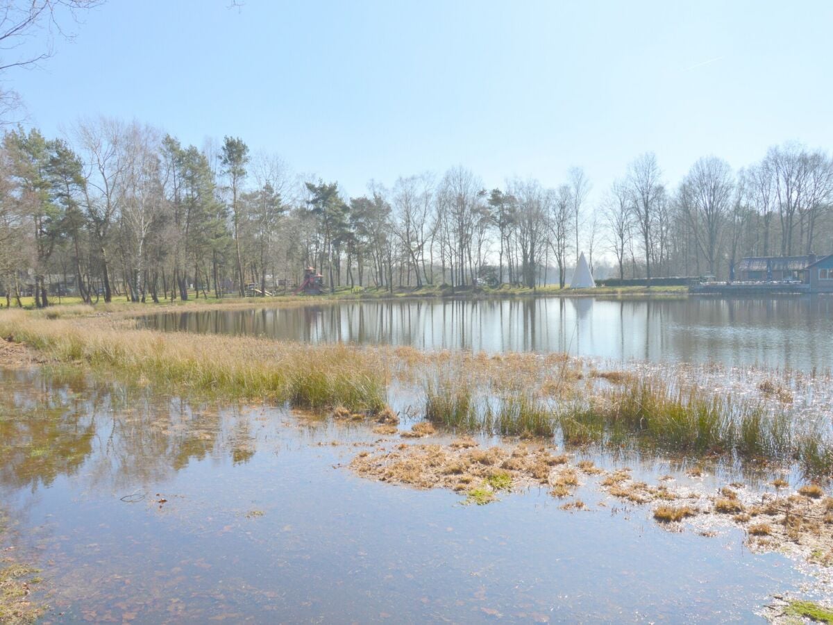
<svg viewBox="0 0 833 625"><path fill-rule="evenodd" d="M578 165L597 199L648 150L676 183L708 154L833 146L833 2L230 3L110 0L12 87L48 135L97 113L236 135L352 195Z"/></svg>

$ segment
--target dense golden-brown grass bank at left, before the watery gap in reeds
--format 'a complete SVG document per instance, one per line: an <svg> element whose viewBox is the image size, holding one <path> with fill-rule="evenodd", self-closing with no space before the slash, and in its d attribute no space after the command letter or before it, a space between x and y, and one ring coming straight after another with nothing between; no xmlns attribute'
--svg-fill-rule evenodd
<svg viewBox="0 0 833 625"><path fill-rule="evenodd" d="M311 346L261 338L159 333L117 318L48 319L2 311L0 336L43 357L82 365L161 389L223 398L257 398L301 408L378 413L385 406L383 353L333 344Z"/></svg>

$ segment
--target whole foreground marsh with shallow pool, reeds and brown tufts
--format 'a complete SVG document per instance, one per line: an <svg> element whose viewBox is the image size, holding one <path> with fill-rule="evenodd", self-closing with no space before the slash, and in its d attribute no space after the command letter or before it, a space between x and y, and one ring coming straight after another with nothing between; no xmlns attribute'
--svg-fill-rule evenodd
<svg viewBox="0 0 833 625"><path fill-rule="evenodd" d="M413 318L414 303L391 305L387 328ZM461 314L431 308L449 305ZM483 305L461 327L490 333ZM206 307L306 320L303 343L160 323L196 312L3 311L5 609L148 622L333 620L347 603L357 620L824 610L823 359L426 348L425 328L407 344L377 323L363 342L310 340L322 316L351 319L342 306ZM378 321L379 303L350 306ZM576 335L598 323L568 320Z"/></svg>

